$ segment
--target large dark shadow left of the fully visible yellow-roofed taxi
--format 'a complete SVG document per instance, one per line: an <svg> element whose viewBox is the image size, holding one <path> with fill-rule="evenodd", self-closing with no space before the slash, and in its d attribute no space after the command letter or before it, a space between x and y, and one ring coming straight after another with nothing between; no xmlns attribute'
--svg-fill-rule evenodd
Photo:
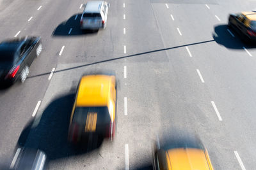
<svg viewBox="0 0 256 170"><path fill-rule="evenodd" d="M49 161L92 152L99 148L103 139L93 145L83 143L83 147L68 143L68 124L74 98L75 94L66 94L54 99L44 110L40 120L32 120L24 128L17 146L42 150Z"/></svg>

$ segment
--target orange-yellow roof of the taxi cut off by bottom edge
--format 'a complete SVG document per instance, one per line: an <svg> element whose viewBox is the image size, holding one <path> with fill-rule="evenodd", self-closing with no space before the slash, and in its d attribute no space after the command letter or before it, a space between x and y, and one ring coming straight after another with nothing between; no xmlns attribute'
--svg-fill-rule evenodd
<svg viewBox="0 0 256 170"><path fill-rule="evenodd" d="M166 151L168 169L172 170L209 170L204 150L198 148L175 148Z"/></svg>

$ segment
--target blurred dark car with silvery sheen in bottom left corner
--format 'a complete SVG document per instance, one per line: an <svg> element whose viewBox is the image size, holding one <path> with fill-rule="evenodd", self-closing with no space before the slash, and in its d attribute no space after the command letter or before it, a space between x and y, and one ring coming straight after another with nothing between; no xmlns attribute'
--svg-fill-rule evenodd
<svg viewBox="0 0 256 170"><path fill-rule="evenodd" d="M42 170L45 169L47 156L41 150L33 148L18 148L13 157L10 169Z"/></svg>

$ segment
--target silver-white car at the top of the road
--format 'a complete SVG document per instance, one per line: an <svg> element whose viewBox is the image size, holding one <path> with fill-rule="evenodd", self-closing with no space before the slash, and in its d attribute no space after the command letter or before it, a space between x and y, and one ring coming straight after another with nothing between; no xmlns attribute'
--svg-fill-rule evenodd
<svg viewBox="0 0 256 170"><path fill-rule="evenodd" d="M80 20L81 29L98 30L106 28L109 3L106 1L89 1L84 7Z"/></svg>

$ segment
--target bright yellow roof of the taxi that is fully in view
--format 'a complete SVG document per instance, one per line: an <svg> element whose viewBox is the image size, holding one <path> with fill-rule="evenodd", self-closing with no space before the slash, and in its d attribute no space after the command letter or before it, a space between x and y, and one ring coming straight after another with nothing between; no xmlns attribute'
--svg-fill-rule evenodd
<svg viewBox="0 0 256 170"><path fill-rule="evenodd" d="M79 83L76 106L107 106L113 76L83 76Z"/></svg>

